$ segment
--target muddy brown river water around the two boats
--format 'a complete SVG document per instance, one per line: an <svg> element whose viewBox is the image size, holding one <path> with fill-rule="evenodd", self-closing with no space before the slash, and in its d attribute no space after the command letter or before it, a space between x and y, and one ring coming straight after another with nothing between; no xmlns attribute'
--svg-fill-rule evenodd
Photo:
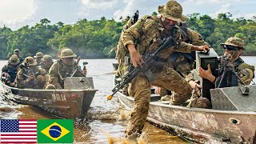
<svg viewBox="0 0 256 144"><path fill-rule="evenodd" d="M242 57L245 62L256 66L256 57ZM107 95L114 87L114 59L86 59L87 76L94 78L94 88L98 89L90 106L88 118L84 122L76 121L74 125L74 142L76 143L126 143L124 130L130 112L125 110L113 98L106 102ZM0 68L7 61L0 61ZM80 62L82 64L82 62ZM2 87L0 87L2 90ZM2 91L0 95L3 95ZM34 106L18 105L0 96L0 118L55 118ZM186 143L181 138L160 130L146 123L142 139L138 143Z"/></svg>

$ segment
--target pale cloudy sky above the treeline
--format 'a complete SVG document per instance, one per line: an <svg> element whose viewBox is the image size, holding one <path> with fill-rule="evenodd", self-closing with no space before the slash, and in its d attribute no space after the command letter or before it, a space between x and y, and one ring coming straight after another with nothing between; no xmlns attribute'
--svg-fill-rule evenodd
<svg viewBox="0 0 256 144"><path fill-rule="evenodd" d="M42 18L50 24L64 22L74 24L79 19L94 20L131 16L136 10L139 15L152 14L167 0L0 0L0 27L17 30L22 26L34 26ZM183 14L208 14L216 18L220 13L230 12L232 18L256 16L255 0L177 0Z"/></svg>

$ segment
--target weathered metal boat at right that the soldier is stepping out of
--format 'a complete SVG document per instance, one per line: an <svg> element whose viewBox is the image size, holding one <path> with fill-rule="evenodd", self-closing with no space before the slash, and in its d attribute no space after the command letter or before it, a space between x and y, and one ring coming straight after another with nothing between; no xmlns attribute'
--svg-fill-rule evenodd
<svg viewBox="0 0 256 144"><path fill-rule="evenodd" d="M190 142L256 143L256 86L247 88L250 92L246 95L238 86L210 90L213 109L171 106L151 94L147 120ZM116 95L126 109L133 108L133 97L122 90ZM232 98L240 98L240 102Z"/></svg>

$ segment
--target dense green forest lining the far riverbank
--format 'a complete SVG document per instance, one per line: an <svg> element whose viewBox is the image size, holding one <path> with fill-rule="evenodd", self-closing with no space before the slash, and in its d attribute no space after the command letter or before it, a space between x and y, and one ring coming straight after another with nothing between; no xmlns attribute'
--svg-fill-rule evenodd
<svg viewBox="0 0 256 144"><path fill-rule="evenodd" d="M156 15L157 13L153 13ZM222 53L219 43L231 36L245 40L244 55L256 55L256 17L252 19L232 18L232 14L218 14L218 18L208 15L190 14L187 21L192 30L198 31L206 42L218 54ZM127 18L88 21L79 20L74 25L58 22L50 25L46 18L35 26L23 26L18 30L0 28L0 58L9 58L13 50L18 48L23 56L34 55L38 51L55 56L63 47L70 47L82 58L114 58L114 49L122 26Z"/></svg>

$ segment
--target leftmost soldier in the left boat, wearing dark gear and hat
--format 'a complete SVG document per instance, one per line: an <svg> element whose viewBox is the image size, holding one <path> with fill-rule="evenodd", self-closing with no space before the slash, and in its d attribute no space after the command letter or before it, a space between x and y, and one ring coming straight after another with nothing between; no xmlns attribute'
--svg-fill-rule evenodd
<svg viewBox="0 0 256 144"><path fill-rule="evenodd" d="M2 82L8 86L16 86L16 74L19 65L19 58L16 54L13 54L6 66L2 67Z"/></svg>

